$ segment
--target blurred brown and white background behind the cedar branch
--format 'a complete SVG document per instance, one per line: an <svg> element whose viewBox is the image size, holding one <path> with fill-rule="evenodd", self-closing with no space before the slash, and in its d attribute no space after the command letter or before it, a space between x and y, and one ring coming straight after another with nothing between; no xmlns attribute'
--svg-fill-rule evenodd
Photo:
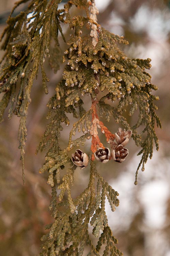
<svg viewBox="0 0 170 256"><path fill-rule="evenodd" d="M0 32L5 28L5 20L14 2L0 1ZM149 73L152 83L159 87L155 95L160 98L156 102L157 114L163 126L162 130L156 128L159 151L154 150L144 172L140 169L137 186L134 181L140 156L136 155L140 148L133 140L127 145L129 155L121 165L116 162L108 163L108 168L98 165L99 173L120 194L120 205L114 213L109 203L106 205L109 225L124 256L170 256L170 1L96 0L96 6L99 9L98 23L115 34L124 35L129 41L123 49L130 58L152 59ZM78 10L73 12L76 14ZM66 29L65 32L70 33ZM62 44L61 48L64 51L66 45ZM0 54L2 56L3 53ZM41 76L35 81L31 93L25 147L25 186L22 184L17 140L19 118L13 115L9 121L7 110L4 122L0 124L0 248L1 255L5 256L38 254L40 238L46 232L44 225L53 222L48 212L51 188L46 184L47 173L38 173L46 152L36 156L35 150L48 123L46 104L55 94L63 65L57 74L50 70L48 61L45 66L50 78L49 94L44 93ZM84 99L87 104L88 100ZM132 124L135 122L135 115L127 118ZM112 120L108 128L114 133L118 127ZM63 148L68 131L62 133ZM88 180L89 169L80 171L77 168L73 197L81 193Z"/></svg>

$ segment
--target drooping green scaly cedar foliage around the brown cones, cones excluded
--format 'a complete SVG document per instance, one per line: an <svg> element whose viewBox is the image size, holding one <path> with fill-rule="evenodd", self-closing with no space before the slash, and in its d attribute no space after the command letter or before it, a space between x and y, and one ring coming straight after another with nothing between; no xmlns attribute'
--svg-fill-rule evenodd
<svg viewBox="0 0 170 256"><path fill-rule="evenodd" d="M154 104L154 100L159 98L152 94L152 90L158 88L151 83L151 76L145 71L150 69L151 59L128 58L118 46L128 42L91 19L89 7L94 2L69 0L64 5L64 9L60 10L58 4L61 0L31 1L24 12L13 17L12 13L17 6L26 2L29 1L20 0L15 4L7 20L7 27L1 35L1 41L3 39L1 48L5 53L1 60L3 66L0 72L0 93L3 94L0 101L0 121L8 105L9 119L12 114L20 118L18 137L23 181L26 118L33 81L40 67L42 85L45 93L48 93L46 82L49 79L44 69L45 58L49 57L51 68L57 72L60 54L59 32L64 42L66 41L61 24L68 24L72 30L70 39L66 42L68 48L63 55L63 62L66 62L63 79L57 84L56 93L47 104L49 108L47 118L50 121L36 150L38 153L50 147L40 173L48 172L47 183L52 189L49 211L55 219L52 224L46 225L46 229L50 231L42 237L40 255L82 255L87 245L90 248L89 256L99 255L102 245L105 246L103 255L122 255L116 247L118 240L112 234L105 212L106 198L111 210L114 211L119 205L117 198L119 194L97 172L93 156L96 145L101 145L99 137L97 137L98 141L92 138L89 153L91 159L89 184L75 199L71 196L71 186L74 185L74 171L77 167L73 165L68 152L83 146L87 139L93 137L90 133L91 115L93 120L94 117L98 117L96 114L98 112L100 117L105 117L106 122L113 118L115 123L120 123L126 130L132 130L135 144L141 147L138 155L141 154L142 157L135 180L137 184L140 166L143 171L148 157L152 158L153 141L158 150L155 122L161 127L155 113L157 106ZM84 10L86 17L80 15L72 17L70 14L72 5ZM90 33L92 25L96 25L98 35L95 46ZM55 46L50 49L52 40L55 40ZM20 84L17 83L18 80ZM92 107L88 111L83 108L83 96L86 94L92 100ZM102 97L99 98L99 95ZM115 101L117 105L112 104ZM139 118L136 124L130 127L125 112L128 111L128 115L131 116L136 110L139 111ZM78 121L73 124L68 146L63 149L60 147L60 131L64 129L64 124L68 126L70 123L67 113L72 113ZM102 122L100 124L103 125ZM143 130L139 133L137 130L140 126ZM83 135L73 140L72 137L77 130L82 131ZM109 142L110 137L107 136L113 137L113 134L104 125L101 131L105 133L106 141ZM67 173L61 181L60 172L68 165ZM56 188L60 189L59 203ZM65 192L67 192L67 200L63 200ZM93 245L89 235L89 222L93 226L93 235L99 237L96 246Z"/></svg>

